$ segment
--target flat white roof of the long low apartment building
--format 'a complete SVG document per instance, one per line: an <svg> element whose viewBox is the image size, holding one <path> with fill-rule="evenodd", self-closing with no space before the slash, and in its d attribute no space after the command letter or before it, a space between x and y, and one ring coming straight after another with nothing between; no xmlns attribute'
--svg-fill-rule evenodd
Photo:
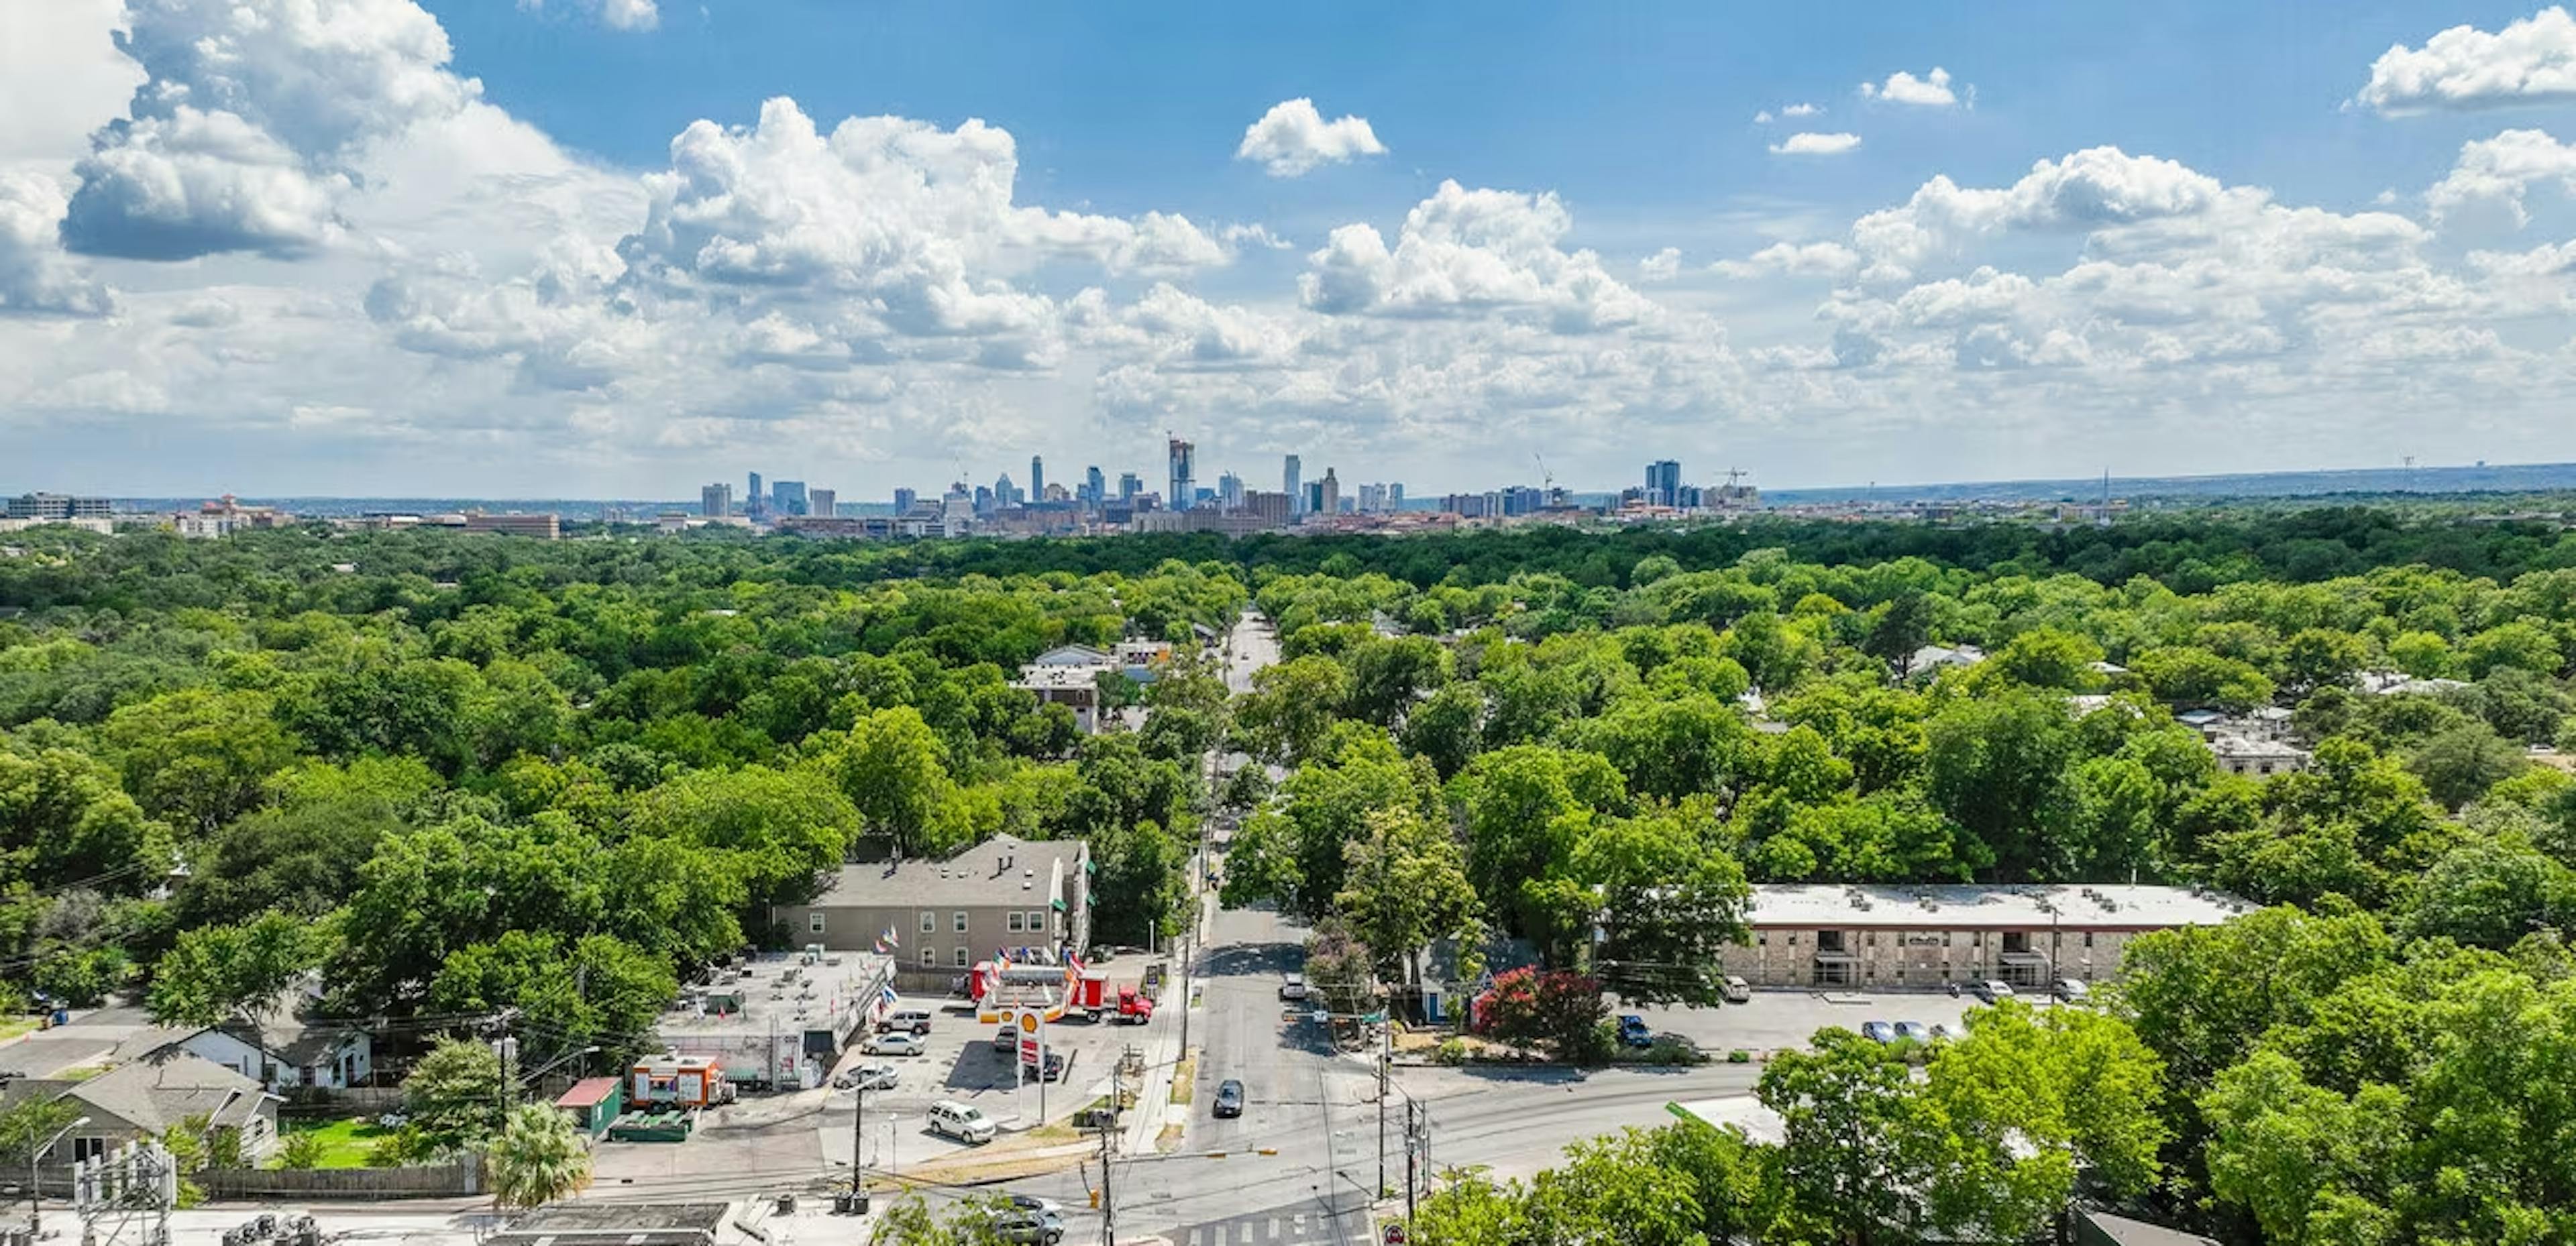
<svg viewBox="0 0 2576 1246"><path fill-rule="evenodd" d="M1752 927L1850 929L2164 929L2215 927L2251 911L2210 888L2079 883L1832 886L1757 883Z"/></svg>

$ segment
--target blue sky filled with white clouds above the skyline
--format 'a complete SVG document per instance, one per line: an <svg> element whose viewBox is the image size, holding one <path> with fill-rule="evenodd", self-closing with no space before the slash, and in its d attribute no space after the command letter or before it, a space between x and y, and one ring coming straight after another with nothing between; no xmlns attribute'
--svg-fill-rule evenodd
<svg viewBox="0 0 2576 1246"><path fill-rule="evenodd" d="M8 489L2576 458L2535 5L129 5L0 15Z"/></svg>

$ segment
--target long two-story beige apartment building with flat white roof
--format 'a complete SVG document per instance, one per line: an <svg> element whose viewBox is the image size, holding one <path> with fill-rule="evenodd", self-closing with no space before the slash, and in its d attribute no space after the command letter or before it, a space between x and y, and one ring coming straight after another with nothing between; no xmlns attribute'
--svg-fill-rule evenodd
<svg viewBox="0 0 2576 1246"><path fill-rule="evenodd" d="M1754 986L1937 989L2097 981L2128 940L2210 927L2254 906L2164 886L1757 886L1752 942L1723 971Z"/></svg>

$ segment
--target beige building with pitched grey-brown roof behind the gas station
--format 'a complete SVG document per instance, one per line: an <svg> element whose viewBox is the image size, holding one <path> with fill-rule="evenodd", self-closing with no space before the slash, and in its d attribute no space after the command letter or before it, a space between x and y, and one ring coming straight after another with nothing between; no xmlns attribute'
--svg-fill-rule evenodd
<svg viewBox="0 0 2576 1246"><path fill-rule="evenodd" d="M1090 950L1090 865L1082 839L997 834L948 860L842 865L811 904L770 919L796 945L871 953L886 940L896 989L945 994L1002 947Z"/></svg>

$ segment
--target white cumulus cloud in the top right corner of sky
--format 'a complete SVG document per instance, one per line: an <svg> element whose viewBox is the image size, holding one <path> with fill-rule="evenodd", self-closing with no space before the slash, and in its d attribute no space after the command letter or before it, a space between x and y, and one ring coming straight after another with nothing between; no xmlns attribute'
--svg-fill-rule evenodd
<svg viewBox="0 0 2576 1246"><path fill-rule="evenodd" d="M2452 26L2370 62L2354 103L2383 116L2576 100L2576 18L2550 5L2501 31Z"/></svg>

